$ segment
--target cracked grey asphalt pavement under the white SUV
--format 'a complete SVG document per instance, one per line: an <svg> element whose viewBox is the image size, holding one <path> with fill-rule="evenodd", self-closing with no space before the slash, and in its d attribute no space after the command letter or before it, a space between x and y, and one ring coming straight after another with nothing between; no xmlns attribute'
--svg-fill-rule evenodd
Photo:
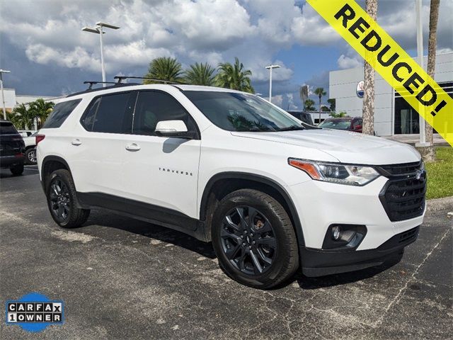
<svg viewBox="0 0 453 340"><path fill-rule="evenodd" d="M211 244L92 210L77 229L50 217L38 170L0 171L0 305L63 300L65 322L0 339L452 339L453 200L430 202L403 260L256 290L219 268Z"/></svg>

